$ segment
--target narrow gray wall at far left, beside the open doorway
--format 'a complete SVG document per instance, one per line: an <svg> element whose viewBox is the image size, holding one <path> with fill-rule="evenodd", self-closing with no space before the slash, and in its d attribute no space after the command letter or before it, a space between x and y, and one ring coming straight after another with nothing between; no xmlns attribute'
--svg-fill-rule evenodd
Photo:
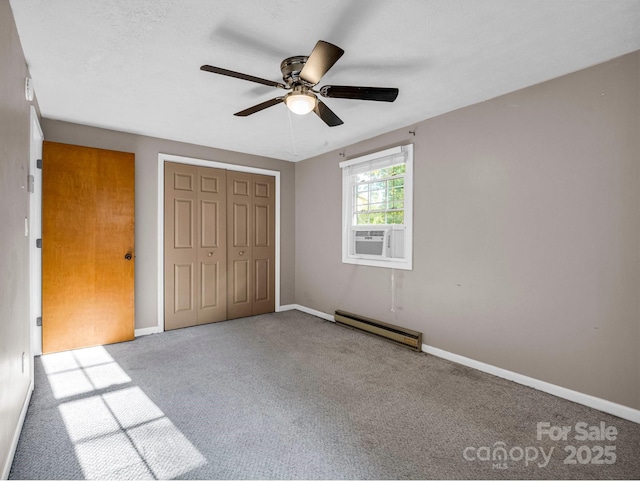
<svg viewBox="0 0 640 481"><path fill-rule="evenodd" d="M29 76L9 2L0 1L0 476L31 382L29 340ZM22 371L22 353L26 365Z"/></svg>

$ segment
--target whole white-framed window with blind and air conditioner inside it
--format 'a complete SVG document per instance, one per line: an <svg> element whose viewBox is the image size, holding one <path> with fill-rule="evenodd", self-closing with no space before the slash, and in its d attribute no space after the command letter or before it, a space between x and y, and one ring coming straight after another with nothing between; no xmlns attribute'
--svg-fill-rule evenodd
<svg viewBox="0 0 640 481"><path fill-rule="evenodd" d="M342 262L412 269L413 145L340 163Z"/></svg>

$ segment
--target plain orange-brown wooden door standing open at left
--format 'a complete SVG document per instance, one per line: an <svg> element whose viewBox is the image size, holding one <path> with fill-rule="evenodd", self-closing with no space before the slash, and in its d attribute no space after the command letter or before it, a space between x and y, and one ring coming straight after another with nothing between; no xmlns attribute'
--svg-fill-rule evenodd
<svg viewBox="0 0 640 481"><path fill-rule="evenodd" d="M43 353L134 338L134 154L44 142Z"/></svg>

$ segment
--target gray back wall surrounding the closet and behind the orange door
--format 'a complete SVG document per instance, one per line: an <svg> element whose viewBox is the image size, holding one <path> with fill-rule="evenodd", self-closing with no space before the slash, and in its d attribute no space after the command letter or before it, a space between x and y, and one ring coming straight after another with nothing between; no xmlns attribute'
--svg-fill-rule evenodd
<svg viewBox="0 0 640 481"><path fill-rule="evenodd" d="M136 156L136 329L158 324L158 154L280 171L280 303L294 301L294 164L220 149L43 119L47 141L133 152Z"/></svg>

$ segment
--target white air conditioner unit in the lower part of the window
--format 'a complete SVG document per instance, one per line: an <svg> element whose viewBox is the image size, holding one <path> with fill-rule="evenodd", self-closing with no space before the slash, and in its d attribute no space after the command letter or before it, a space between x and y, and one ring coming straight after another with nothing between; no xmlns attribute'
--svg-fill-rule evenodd
<svg viewBox="0 0 640 481"><path fill-rule="evenodd" d="M362 258L403 259L404 231L404 226L353 227L350 254Z"/></svg>

